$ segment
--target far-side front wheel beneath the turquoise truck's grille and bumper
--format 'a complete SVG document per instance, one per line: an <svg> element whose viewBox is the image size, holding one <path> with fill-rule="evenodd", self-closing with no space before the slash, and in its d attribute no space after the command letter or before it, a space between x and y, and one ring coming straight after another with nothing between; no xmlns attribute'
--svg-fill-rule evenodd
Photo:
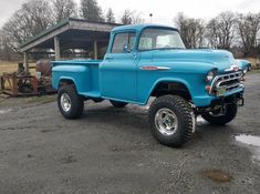
<svg viewBox="0 0 260 194"><path fill-rule="evenodd" d="M211 124L225 125L232 121L238 112L237 103L227 104L223 109L219 109L212 112L205 112L201 116Z"/></svg>

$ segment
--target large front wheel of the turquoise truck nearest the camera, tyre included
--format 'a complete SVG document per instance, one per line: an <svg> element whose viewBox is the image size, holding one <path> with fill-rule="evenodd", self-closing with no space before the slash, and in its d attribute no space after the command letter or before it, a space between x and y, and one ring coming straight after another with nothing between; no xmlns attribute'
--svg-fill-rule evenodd
<svg viewBox="0 0 260 194"><path fill-rule="evenodd" d="M156 99L148 112L152 134L164 145L179 147L195 131L195 116L186 100L178 95Z"/></svg>

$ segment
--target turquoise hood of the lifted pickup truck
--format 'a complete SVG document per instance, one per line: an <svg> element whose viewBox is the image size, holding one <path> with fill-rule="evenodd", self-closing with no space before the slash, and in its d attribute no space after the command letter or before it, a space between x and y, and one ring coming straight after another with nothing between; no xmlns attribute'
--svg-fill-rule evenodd
<svg viewBox="0 0 260 194"><path fill-rule="evenodd" d="M217 68L220 72L236 64L231 52L206 49L156 50L153 54L153 61L197 62L204 67Z"/></svg>

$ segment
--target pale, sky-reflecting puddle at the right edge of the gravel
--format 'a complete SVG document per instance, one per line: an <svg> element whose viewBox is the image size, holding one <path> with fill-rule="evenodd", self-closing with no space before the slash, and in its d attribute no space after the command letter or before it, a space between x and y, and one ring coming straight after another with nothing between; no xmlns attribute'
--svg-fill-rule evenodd
<svg viewBox="0 0 260 194"><path fill-rule="evenodd" d="M249 149L252 153L252 162L260 164L260 136L240 134L235 139Z"/></svg>

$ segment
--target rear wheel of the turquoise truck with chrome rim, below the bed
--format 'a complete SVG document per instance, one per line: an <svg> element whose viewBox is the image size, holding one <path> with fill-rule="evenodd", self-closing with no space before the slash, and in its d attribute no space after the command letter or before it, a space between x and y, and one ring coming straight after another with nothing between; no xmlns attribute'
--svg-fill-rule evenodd
<svg viewBox="0 0 260 194"><path fill-rule="evenodd" d="M62 85L58 91L58 106L66 119L77 119L84 110L84 100L80 96L74 85Z"/></svg>

